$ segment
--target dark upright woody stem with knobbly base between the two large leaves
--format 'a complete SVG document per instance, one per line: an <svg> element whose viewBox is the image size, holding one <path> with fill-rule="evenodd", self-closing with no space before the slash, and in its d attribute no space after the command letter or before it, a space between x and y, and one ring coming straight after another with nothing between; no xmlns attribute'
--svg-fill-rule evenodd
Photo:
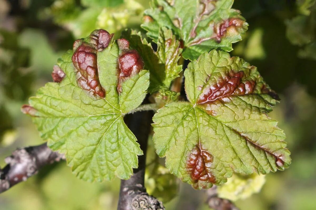
<svg viewBox="0 0 316 210"><path fill-rule="evenodd" d="M138 168L134 169L131 178L121 180L118 210L165 209L160 201L148 195L144 187L147 140L152 116L152 111L138 112L126 116L127 125L136 136L144 154L138 156Z"/></svg>

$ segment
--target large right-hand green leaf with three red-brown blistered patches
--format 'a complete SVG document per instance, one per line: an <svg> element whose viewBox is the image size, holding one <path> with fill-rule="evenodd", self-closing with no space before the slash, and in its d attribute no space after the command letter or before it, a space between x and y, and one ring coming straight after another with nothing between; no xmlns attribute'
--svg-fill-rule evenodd
<svg viewBox="0 0 316 210"><path fill-rule="evenodd" d="M166 166L196 189L223 184L233 172L266 174L288 167L285 135L266 113L277 95L256 67L212 50L185 70L189 102L155 114L154 143Z"/></svg>

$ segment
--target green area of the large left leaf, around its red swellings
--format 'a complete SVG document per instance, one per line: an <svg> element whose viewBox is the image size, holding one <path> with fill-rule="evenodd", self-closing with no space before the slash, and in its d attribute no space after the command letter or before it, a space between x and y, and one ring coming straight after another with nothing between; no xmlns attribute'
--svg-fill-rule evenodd
<svg viewBox="0 0 316 210"><path fill-rule="evenodd" d="M69 50L58 60L65 73L63 80L47 83L29 100L36 110L33 121L41 137L50 148L65 153L72 171L84 180L111 180L115 176L129 179L132 168L138 165L137 155L142 155L123 116L142 103L149 86L149 72L141 70L125 77L119 93L120 53L116 41L97 51L105 98L78 86L71 58L73 51Z"/></svg>

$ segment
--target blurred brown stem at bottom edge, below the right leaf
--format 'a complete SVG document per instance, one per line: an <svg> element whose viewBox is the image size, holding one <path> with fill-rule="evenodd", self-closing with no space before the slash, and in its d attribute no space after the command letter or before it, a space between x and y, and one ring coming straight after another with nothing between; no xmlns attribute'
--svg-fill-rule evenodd
<svg viewBox="0 0 316 210"><path fill-rule="evenodd" d="M207 190L207 195L207 204L214 210L239 210L231 201L218 197L216 185Z"/></svg>

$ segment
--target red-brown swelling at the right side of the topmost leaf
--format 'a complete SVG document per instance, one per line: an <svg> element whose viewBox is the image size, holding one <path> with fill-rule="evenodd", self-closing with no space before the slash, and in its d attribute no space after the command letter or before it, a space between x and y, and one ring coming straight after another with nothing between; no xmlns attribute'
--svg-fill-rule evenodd
<svg viewBox="0 0 316 210"><path fill-rule="evenodd" d="M245 21L239 18L230 18L223 23L214 25L215 40L220 43L222 37L227 33L238 34L238 30L244 25Z"/></svg>

